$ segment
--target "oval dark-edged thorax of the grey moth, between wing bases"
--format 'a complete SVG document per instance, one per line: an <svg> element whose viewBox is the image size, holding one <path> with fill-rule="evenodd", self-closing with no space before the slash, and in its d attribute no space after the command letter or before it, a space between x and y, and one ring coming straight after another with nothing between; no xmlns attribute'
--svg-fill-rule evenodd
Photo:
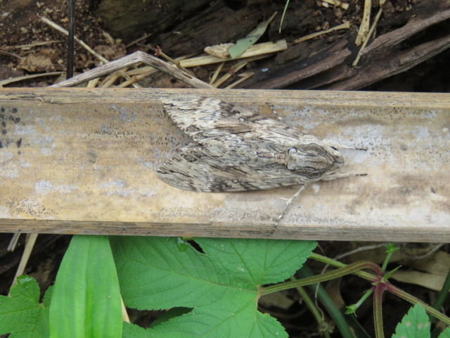
<svg viewBox="0 0 450 338"><path fill-rule="evenodd" d="M309 173L311 177L322 175L335 163L334 156L317 144L302 144L288 150L286 165L289 170Z"/></svg>

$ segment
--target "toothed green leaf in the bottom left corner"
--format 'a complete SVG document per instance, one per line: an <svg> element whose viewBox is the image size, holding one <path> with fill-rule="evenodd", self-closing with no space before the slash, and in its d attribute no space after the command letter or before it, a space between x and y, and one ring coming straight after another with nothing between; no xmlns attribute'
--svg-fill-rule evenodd
<svg viewBox="0 0 450 338"><path fill-rule="evenodd" d="M11 287L11 296L0 296L0 334L9 337L48 337L48 309L39 306L39 285L29 276L20 276Z"/></svg>

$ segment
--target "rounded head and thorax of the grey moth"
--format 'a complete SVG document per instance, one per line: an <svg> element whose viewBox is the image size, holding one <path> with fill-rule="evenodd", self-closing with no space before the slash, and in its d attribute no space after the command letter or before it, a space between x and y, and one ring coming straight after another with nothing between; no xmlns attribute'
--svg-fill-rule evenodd
<svg viewBox="0 0 450 338"><path fill-rule="evenodd" d="M309 180L330 177L344 165L340 151L322 142L293 146L288 150L286 160L289 170Z"/></svg>

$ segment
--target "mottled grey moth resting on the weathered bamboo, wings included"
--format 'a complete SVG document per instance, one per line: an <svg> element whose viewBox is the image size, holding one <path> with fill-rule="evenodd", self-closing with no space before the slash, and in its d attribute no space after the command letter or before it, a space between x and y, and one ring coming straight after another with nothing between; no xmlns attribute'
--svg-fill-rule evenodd
<svg viewBox="0 0 450 338"><path fill-rule="evenodd" d="M273 189L346 177L333 141L203 96L169 96L165 111L193 143L158 168L174 187L198 192ZM345 146L342 146L345 147Z"/></svg>

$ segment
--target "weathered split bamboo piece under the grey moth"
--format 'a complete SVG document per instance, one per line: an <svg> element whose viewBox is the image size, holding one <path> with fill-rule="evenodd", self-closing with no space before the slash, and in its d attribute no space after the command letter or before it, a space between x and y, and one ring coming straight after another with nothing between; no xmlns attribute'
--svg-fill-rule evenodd
<svg viewBox="0 0 450 338"><path fill-rule="evenodd" d="M171 94L215 96L342 150L343 172L298 187L186 192L155 168L190 141ZM271 107L271 108L270 108ZM210 89L0 89L0 231L450 242L450 94Z"/></svg>

